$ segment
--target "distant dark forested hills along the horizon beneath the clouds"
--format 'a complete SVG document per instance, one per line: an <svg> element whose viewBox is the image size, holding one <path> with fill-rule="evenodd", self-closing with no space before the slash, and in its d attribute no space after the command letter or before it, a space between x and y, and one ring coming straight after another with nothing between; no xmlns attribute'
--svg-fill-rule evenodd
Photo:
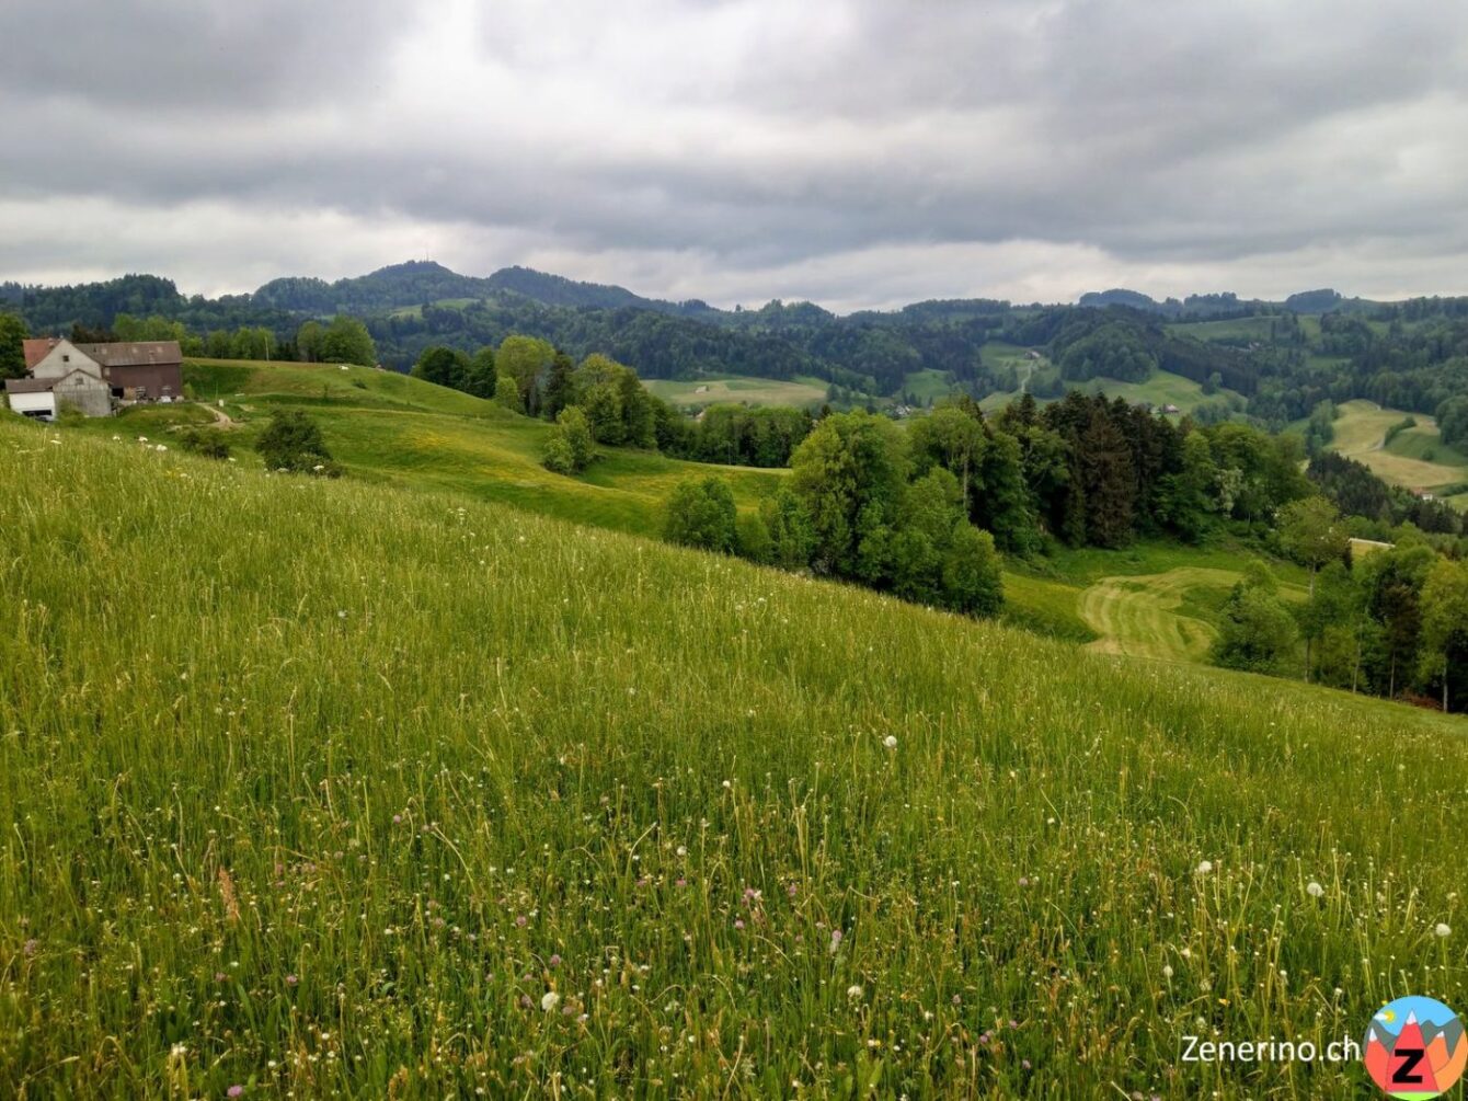
<svg viewBox="0 0 1468 1101"><path fill-rule="evenodd" d="M602 352L644 379L818 379L837 389L832 399L857 404L918 404L954 389L1045 399L1119 385L1139 388L1133 399L1169 402L1166 386L1145 388L1171 374L1208 398L1207 408L1193 402L1195 417L1246 413L1283 427L1326 399L1436 414L1468 393L1468 298L1371 302L1331 289L1283 302L1232 294L1158 302L1111 289L1079 305L945 299L838 316L812 302L718 310L526 267L474 277L413 261L335 283L276 279L214 299L150 275L0 283L0 310L19 313L37 335L172 338L222 358L298 358L302 324L348 314L366 324L376 358L398 370L435 345L474 351L527 335L575 358Z"/></svg>

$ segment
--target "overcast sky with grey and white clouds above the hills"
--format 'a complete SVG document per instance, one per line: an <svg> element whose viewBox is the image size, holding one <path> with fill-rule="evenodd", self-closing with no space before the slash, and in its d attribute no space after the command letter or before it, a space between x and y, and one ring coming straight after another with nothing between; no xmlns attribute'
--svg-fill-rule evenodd
<svg viewBox="0 0 1468 1101"><path fill-rule="evenodd" d="M3 0L0 279L1468 294L1459 0Z"/></svg>

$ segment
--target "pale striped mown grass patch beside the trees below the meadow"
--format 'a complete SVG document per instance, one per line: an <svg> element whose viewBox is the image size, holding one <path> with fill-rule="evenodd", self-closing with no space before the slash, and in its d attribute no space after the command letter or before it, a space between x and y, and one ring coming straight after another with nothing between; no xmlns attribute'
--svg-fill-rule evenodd
<svg viewBox="0 0 1468 1101"><path fill-rule="evenodd" d="M1195 586L1230 586L1232 570L1179 567L1164 574L1102 577L1080 595L1080 618L1101 637L1086 649L1130 658L1199 662L1216 631L1211 624L1177 611Z"/></svg>

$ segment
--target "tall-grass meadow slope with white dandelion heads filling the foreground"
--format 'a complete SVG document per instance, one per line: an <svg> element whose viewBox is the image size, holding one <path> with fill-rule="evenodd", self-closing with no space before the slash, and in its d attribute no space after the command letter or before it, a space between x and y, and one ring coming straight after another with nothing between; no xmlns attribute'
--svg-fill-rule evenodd
<svg viewBox="0 0 1468 1101"><path fill-rule="evenodd" d="M458 493L0 470L0 1092L1353 1097L1182 1036L1468 1003L1461 721Z"/></svg>

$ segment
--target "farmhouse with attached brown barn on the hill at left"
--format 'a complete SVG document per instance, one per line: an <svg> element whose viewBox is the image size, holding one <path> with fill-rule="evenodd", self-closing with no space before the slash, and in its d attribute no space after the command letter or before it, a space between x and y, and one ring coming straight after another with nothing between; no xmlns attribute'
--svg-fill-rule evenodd
<svg viewBox="0 0 1468 1101"><path fill-rule="evenodd" d="M10 408L53 420L65 407L106 417L113 402L173 401L184 395L184 355L178 341L72 344L63 338L25 341L28 379L6 380Z"/></svg>

